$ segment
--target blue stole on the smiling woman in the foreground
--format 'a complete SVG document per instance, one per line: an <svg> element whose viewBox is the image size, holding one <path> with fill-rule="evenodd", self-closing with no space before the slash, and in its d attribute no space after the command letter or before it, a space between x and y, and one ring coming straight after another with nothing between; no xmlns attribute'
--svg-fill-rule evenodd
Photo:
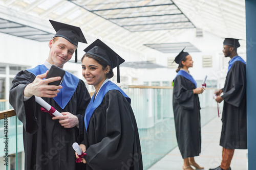
<svg viewBox="0 0 256 170"><path fill-rule="evenodd" d="M89 125L89 122L90 122L90 119L91 119L91 116L93 114L93 112L95 111L95 109L101 104L105 94L110 91L110 90L118 90L120 91L123 96L126 98L126 100L131 104L131 99L129 98L129 96L127 96L122 89L120 89L116 84L114 84L113 82L111 81L108 81L106 82L102 87L101 89L99 90L98 94L97 94L97 97L96 99L94 100L94 96L95 96L95 93L94 95L92 96L92 99L89 103L89 105L87 106L87 109L86 109L86 115L84 116L84 125L86 126L86 131L87 131L87 128L88 128L88 125Z"/></svg>

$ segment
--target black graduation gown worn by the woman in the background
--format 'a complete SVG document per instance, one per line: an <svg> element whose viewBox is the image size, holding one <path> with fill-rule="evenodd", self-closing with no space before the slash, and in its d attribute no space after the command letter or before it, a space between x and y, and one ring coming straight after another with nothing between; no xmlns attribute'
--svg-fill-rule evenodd
<svg viewBox="0 0 256 170"><path fill-rule="evenodd" d="M201 153L200 103L196 86L183 76L174 80L173 109L178 147L182 158Z"/></svg>

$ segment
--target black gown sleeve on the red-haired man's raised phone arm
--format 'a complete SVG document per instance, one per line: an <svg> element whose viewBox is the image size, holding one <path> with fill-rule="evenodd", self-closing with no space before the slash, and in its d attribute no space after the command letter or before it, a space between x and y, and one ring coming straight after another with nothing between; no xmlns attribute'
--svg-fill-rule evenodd
<svg viewBox="0 0 256 170"><path fill-rule="evenodd" d="M23 123L26 132L34 134L38 130L37 119L35 116L35 98L32 96L24 101L24 89L32 83L35 76L28 71L20 71L12 81L9 102L14 108L18 119ZM29 107L26 107L29 106Z"/></svg>

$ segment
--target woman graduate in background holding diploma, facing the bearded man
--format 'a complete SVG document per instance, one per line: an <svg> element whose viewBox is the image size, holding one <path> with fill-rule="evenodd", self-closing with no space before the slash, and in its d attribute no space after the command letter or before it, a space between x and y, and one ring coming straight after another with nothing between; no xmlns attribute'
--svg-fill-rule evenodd
<svg viewBox="0 0 256 170"><path fill-rule="evenodd" d="M183 49L184 50L184 49ZM194 78L189 74L188 68L193 67L193 60L187 52L180 52L175 58L179 64L174 79L173 109L178 147L184 164L183 170L204 169L199 166L194 157L201 152L201 125L200 103L198 94L203 88L197 87Z"/></svg>

